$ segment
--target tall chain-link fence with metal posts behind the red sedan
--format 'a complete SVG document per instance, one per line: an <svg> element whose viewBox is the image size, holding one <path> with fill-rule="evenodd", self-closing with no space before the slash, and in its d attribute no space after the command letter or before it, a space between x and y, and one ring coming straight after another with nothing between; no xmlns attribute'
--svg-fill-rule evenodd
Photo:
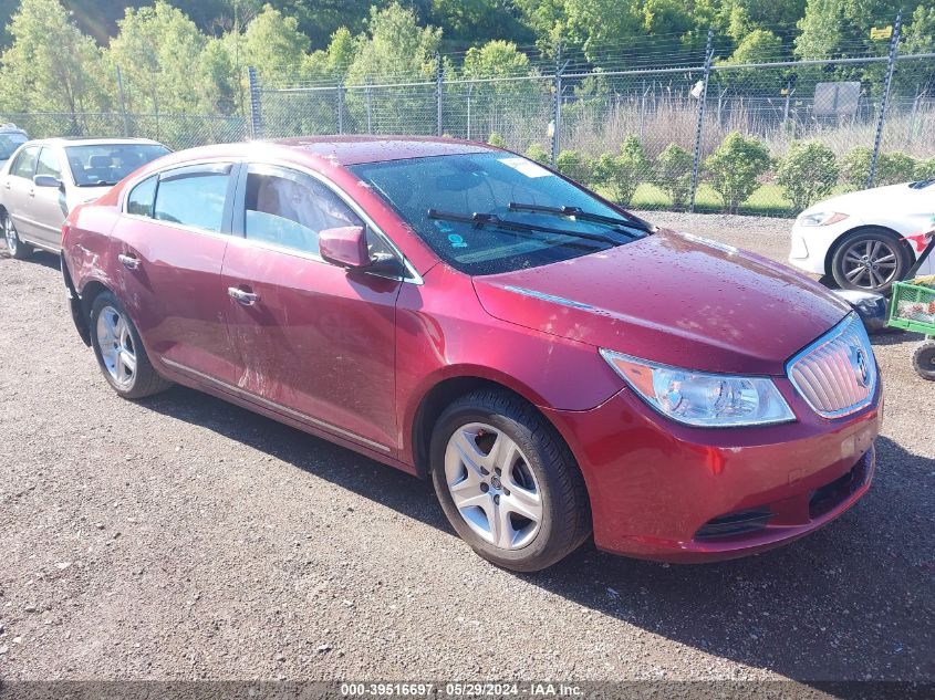
<svg viewBox="0 0 935 700"><path fill-rule="evenodd" d="M256 86L257 135L489 140L637 209L794 216L935 178L935 53ZM439 63L440 65L440 63ZM730 136L731 134L739 135Z"/></svg>

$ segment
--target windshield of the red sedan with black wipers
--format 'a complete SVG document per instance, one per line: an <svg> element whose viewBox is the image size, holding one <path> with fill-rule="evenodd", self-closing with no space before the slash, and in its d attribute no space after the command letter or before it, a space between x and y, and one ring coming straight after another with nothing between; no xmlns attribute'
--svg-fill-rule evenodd
<svg viewBox="0 0 935 700"><path fill-rule="evenodd" d="M637 238L619 224L557 215L554 209L576 208L599 219L624 219L588 191L507 153L366 163L350 169L439 258L471 275L546 265Z"/></svg>

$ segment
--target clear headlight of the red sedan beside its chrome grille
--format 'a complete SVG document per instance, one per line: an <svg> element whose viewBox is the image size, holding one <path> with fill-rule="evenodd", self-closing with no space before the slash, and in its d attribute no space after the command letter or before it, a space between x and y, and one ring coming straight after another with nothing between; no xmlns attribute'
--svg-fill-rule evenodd
<svg viewBox="0 0 935 700"><path fill-rule="evenodd" d="M796 419L768 377L681 369L603 348L601 355L650 406L687 426L729 428Z"/></svg>

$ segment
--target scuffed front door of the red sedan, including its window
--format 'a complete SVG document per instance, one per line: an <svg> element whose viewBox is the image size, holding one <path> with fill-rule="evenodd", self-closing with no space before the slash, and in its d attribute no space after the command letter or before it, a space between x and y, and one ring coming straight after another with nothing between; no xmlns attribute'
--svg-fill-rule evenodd
<svg viewBox="0 0 935 700"><path fill-rule="evenodd" d="M242 238L231 238L222 273L237 386L267 408L392 452L401 282L321 260L319 231L363 226L324 184L259 165L241 180L233 228Z"/></svg>

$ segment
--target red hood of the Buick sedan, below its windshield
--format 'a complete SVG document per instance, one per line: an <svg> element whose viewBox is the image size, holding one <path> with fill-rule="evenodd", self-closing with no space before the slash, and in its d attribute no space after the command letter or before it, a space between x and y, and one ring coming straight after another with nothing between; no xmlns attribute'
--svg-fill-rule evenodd
<svg viewBox="0 0 935 700"><path fill-rule="evenodd" d="M788 268L673 231L474 284L502 321L707 372L782 375L850 312Z"/></svg>

